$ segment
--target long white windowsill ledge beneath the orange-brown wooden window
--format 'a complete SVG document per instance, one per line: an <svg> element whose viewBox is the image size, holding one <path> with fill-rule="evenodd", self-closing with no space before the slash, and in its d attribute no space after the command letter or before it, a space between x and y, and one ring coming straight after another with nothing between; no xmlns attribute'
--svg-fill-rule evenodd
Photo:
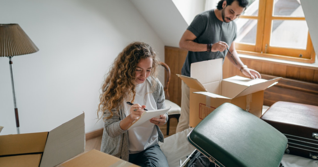
<svg viewBox="0 0 318 167"><path fill-rule="evenodd" d="M301 63L301 62L294 62L294 61L287 61L287 60L280 60L280 59L271 59L271 58L265 58L265 57L251 56L251 55L246 55L246 54L239 54L239 57L243 58L243 59L254 59L254 60L258 60L258 61L262 61L262 62L318 70L317 55L316 55L315 63Z"/></svg>

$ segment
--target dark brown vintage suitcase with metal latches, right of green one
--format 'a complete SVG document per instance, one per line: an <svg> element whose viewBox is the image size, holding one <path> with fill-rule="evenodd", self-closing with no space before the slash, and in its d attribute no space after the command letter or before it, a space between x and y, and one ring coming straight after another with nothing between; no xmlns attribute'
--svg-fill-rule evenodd
<svg viewBox="0 0 318 167"><path fill-rule="evenodd" d="M287 137L289 154L318 159L318 106L278 101L261 119Z"/></svg>

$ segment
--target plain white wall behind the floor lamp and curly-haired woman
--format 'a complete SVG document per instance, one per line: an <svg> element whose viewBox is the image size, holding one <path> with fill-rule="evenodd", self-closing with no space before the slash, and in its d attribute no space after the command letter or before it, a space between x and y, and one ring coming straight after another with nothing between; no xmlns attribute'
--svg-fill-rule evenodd
<svg viewBox="0 0 318 167"><path fill-rule="evenodd" d="M95 119L100 85L130 42L150 44L164 61L162 40L129 0L0 4L0 23L19 24L40 49L12 58L21 133L50 131L82 111L86 132L102 128ZM0 57L1 135L17 133L8 62Z"/></svg>

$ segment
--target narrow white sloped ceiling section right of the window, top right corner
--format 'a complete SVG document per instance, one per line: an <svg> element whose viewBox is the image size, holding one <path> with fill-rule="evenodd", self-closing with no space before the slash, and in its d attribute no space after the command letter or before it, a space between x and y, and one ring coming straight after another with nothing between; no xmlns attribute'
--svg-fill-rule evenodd
<svg viewBox="0 0 318 167"><path fill-rule="evenodd" d="M305 14L309 34L316 54L318 53L318 1L317 0L301 0L301 7Z"/></svg>

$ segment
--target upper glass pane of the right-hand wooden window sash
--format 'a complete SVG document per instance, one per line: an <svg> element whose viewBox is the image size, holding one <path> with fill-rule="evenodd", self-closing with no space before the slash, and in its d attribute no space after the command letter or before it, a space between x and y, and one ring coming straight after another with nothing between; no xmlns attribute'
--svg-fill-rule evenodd
<svg viewBox="0 0 318 167"><path fill-rule="evenodd" d="M273 15L305 17L299 0L274 0Z"/></svg>

